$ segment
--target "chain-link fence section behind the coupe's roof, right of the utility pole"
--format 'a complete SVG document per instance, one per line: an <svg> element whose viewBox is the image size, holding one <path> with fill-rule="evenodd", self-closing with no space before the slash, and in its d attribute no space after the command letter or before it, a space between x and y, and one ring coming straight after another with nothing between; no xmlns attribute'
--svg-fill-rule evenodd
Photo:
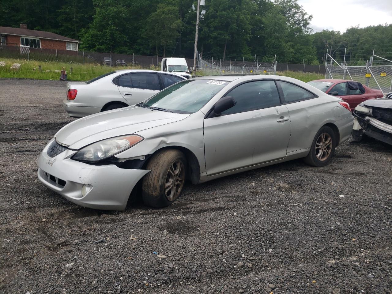
<svg viewBox="0 0 392 294"><path fill-rule="evenodd" d="M198 56L198 72L203 75L220 74L276 74L276 61L258 62L245 58L230 60L214 59L213 57Z"/></svg>

